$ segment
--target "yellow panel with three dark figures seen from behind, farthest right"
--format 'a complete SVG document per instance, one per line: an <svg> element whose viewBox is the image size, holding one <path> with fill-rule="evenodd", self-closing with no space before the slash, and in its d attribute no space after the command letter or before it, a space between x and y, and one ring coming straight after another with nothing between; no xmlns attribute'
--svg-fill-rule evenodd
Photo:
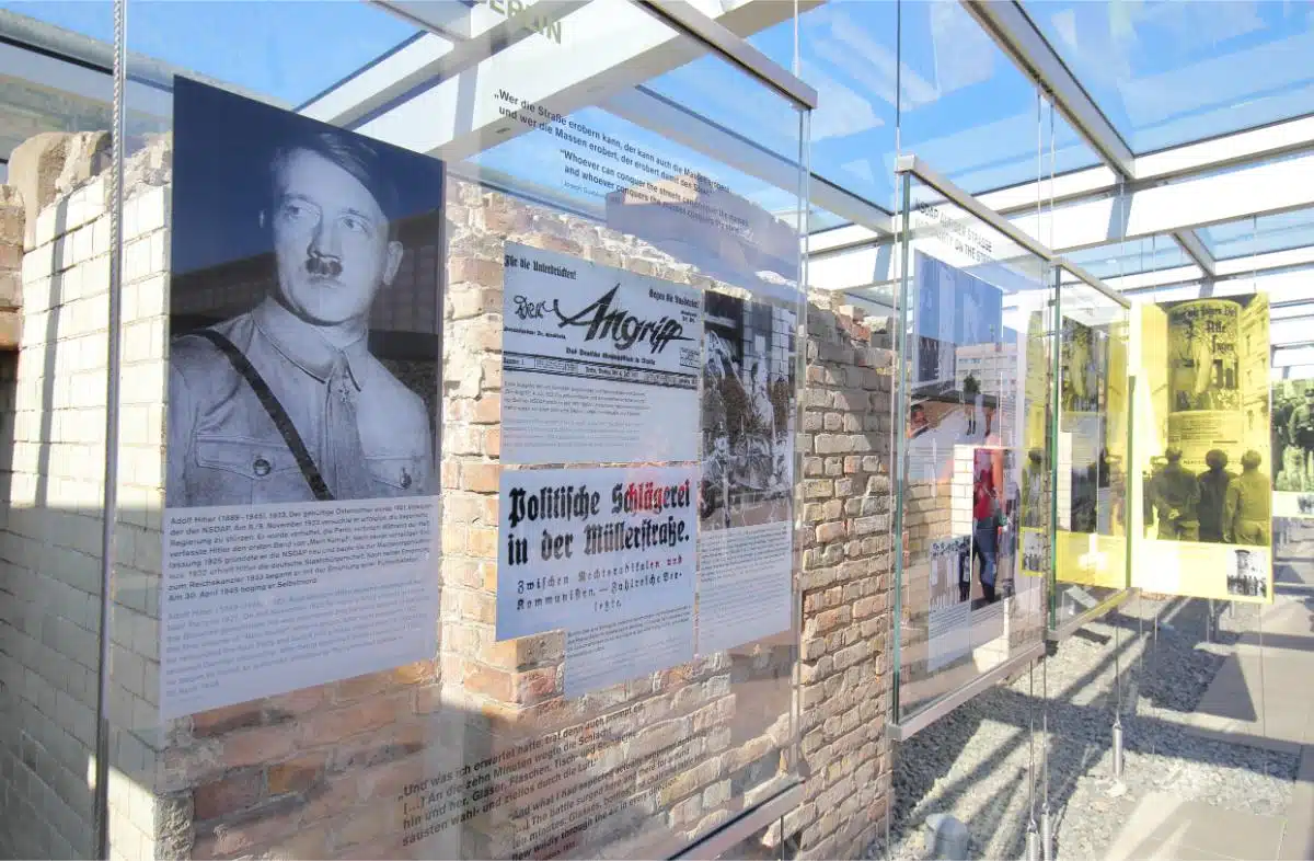
<svg viewBox="0 0 1314 861"><path fill-rule="evenodd" d="M1272 601L1268 308L1248 293L1137 309L1134 586Z"/></svg>

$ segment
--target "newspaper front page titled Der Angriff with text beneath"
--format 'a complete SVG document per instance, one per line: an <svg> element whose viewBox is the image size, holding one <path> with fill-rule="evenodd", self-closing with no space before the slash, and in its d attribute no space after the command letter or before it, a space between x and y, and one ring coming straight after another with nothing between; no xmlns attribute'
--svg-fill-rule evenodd
<svg viewBox="0 0 1314 861"><path fill-rule="evenodd" d="M502 463L698 459L702 296L506 246Z"/></svg>

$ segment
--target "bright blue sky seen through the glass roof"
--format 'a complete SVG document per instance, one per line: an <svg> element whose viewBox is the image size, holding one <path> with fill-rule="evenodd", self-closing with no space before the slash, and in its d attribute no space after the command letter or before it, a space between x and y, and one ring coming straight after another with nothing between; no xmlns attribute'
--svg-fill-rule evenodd
<svg viewBox="0 0 1314 861"><path fill-rule="evenodd" d="M0 5L100 39L113 33L112 5L104 0ZM1025 7L1138 151L1314 112L1311 3L1055 0ZM899 103L901 150L968 191L1034 180L1038 147L1047 155L1050 139L1047 117L1043 130L1037 128L1030 81L955 0L904 3L896 59L897 12L888 0L830 0L802 16L802 75L821 103L812 117L812 168L891 208ZM134 0L129 7L131 51L288 105L414 33L407 22L350 0ZM794 66L792 22L750 41ZM761 146L791 158L796 152L792 110L720 59L703 58L648 85ZM582 114L611 134L706 168L762 205L788 205L787 192L736 176L604 112ZM1058 172L1099 162L1062 118L1054 129ZM556 183L560 152L539 134L502 145L484 160Z"/></svg>

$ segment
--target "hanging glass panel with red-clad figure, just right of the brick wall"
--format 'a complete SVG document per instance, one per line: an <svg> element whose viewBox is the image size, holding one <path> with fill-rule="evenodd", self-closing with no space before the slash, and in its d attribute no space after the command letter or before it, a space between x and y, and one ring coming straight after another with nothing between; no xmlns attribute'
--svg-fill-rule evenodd
<svg viewBox="0 0 1314 861"><path fill-rule="evenodd" d="M907 181L899 720L1041 639L1045 580L1026 576L1024 556L1038 565L1049 553L1038 467L1053 456L1047 267L917 177Z"/></svg>

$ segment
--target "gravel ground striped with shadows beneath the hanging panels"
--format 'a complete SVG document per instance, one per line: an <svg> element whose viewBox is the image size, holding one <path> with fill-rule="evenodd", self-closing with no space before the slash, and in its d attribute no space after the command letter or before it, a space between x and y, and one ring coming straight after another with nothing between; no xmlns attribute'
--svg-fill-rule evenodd
<svg viewBox="0 0 1314 861"><path fill-rule="evenodd" d="M867 856L925 858L922 824L930 814L947 812L967 826L971 857L1021 858L1029 811L1034 803L1039 822L1043 797L1037 787L1033 802L1029 791L1033 722L1037 758L1042 723L1049 731L1056 857L1102 857L1152 791L1282 814L1297 757L1209 740L1181 726L1238 635L1255 628L1255 607L1219 615L1222 606L1212 613L1208 601L1131 598L1063 641L1043 670L995 687L920 732L896 753L890 840ZM1112 780L1110 748L1117 677L1121 785Z"/></svg>

